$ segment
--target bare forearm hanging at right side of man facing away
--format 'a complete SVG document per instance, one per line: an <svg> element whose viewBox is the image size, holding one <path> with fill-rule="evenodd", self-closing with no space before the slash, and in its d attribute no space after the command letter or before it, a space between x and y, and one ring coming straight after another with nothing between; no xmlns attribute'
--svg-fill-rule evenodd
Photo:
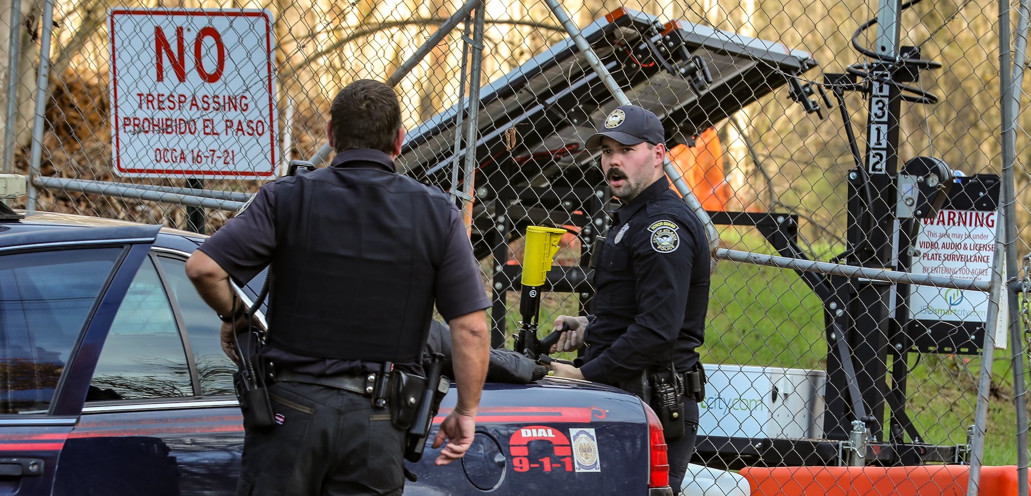
<svg viewBox="0 0 1031 496"><path fill-rule="evenodd" d="M458 384L456 410L475 416L491 357L487 315L483 310L476 310L452 319L447 324L452 330L452 363L455 382Z"/></svg>

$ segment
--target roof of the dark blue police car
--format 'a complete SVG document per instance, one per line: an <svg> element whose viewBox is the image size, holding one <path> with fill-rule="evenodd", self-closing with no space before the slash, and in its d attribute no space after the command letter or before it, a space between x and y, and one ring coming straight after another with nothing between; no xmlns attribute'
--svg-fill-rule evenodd
<svg viewBox="0 0 1031 496"><path fill-rule="evenodd" d="M100 217L78 216L74 213L58 213L53 211L25 211L14 210L24 213L24 219L0 221L0 234L31 232L47 229L89 229L89 228L112 228L140 226L142 224L121 221L117 219L105 219ZM159 246L193 252L207 236L181 229L162 227L158 235Z"/></svg>

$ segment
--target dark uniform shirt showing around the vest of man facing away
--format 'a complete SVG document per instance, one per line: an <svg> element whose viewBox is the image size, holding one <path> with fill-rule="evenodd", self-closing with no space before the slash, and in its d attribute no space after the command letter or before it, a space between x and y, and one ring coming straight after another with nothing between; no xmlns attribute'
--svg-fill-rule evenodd
<svg viewBox="0 0 1031 496"><path fill-rule="evenodd" d="M377 150L356 148L340 152L330 167L372 167L395 172L394 161ZM262 186L251 203L199 247L211 257L238 284L251 280L272 260L275 250L276 181ZM341 212L345 214L345 212ZM437 271L435 297L437 311L445 321L491 306L479 276L479 267L466 237L458 207L452 208L451 228L444 259ZM275 295L270 295L270 299ZM269 332L275 332L270 329ZM378 364L355 360L302 357L268 344L262 355L276 366L318 375L378 371ZM404 367L408 368L408 367ZM409 370L411 370L409 368Z"/></svg>

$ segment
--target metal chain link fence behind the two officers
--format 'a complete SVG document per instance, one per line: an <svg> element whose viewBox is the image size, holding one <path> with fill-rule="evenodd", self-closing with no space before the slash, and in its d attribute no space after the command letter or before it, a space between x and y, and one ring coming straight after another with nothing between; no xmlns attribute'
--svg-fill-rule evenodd
<svg viewBox="0 0 1031 496"><path fill-rule="evenodd" d="M1016 97L1018 166L1007 184L999 53L1010 53L1000 40L1009 28L997 5L885 5L568 3L601 73L543 0L488 0L483 9L450 0L232 5L264 9L267 25L214 21L238 11L219 2L106 0L55 5L47 25L46 5L22 2L0 6L0 39L12 40L0 55L4 169L37 186L15 206L210 233L291 160L327 158L329 102L340 88L390 80L408 129L399 168L464 205L502 345L521 319L529 225L567 230L542 330L590 307L590 254L617 204L584 140L619 105L614 85L663 120L667 171L718 233L696 461L805 473L1017 464L1031 335L1028 259L1015 255L1031 239L1029 86ZM165 13L138 10L155 7L192 12L191 21L176 31L162 24ZM137 24L115 24L119 14ZM204 32L208 25L219 31ZM1025 35L1013 37L1019 48ZM233 45L241 40L258 43ZM139 69L153 65L133 65L144 56L164 64L164 79ZM1025 58L1013 57L1022 75ZM261 80L217 74L225 61L254 64ZM37 93L41 67L48 75ZM114 104L112 78L144 90ZM146 153L126 152L134 139ZM190 172L198 170L206 172ZM1002 220L1009 187L1016 213ZM997 226L1016 227L1006 267L994 256ZM774 255L872 272L799 270ZM885 283L874 273L885 268L939 279ZM1001 293L994 307L984 291L993 274L1024 293ZM993 308L1002 310L1001 332ZM1009 322L1020 331L1012 336ZM985 346L992 338L994 354ZM965 489L964 476L950 481Z"/></svg>

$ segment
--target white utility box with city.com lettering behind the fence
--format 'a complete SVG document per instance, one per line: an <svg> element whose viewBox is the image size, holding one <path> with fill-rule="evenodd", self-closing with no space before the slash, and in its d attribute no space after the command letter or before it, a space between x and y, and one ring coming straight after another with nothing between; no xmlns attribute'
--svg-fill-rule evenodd
<svg viewBox="0 0 1031 496"><path fill-rule="evenodd" d="M822 439L823 370L705 365L708 384L699 404L702 436Z"/></svg>

